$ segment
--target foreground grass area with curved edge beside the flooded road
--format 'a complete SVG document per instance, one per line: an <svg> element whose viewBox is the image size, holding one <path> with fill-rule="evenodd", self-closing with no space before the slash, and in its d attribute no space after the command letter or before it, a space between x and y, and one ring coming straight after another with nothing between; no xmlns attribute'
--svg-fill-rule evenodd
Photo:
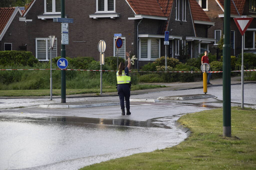
<svg viewBox="0 0 256 170"><path fill-rule="evenodd" d="M232 107L232 137L222 136L222 109L187 114L178 121L193 133L171 148L134 154L85 169L255 169L256 110Z"/></svg>

